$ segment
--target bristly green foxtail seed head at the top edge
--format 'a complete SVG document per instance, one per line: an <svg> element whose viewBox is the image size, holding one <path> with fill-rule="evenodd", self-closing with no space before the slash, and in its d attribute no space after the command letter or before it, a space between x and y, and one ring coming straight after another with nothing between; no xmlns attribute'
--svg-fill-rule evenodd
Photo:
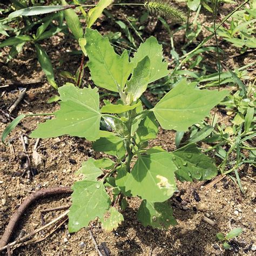
<svg viewBox="0 0 256 256"><path fill-rule="evenodd" d="M144 5L151 14L158 14L177 21L186 20L183 11L173 6L168 0L150 0L146 1Z"/></svg>

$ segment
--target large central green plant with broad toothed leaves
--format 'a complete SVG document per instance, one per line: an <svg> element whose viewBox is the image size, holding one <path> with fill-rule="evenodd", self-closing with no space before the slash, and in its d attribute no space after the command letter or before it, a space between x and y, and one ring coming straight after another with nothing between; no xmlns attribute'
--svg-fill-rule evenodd
<svg viewBox="0 0 256 256"><path fill-rule="evenodd" d="M188 84L183 79L152 109L143 110L139 98L147 85L169 73L156 38L140 44L130 60L127 51L117 55L109 39L96 30L87 28L85 40L93 82L118 92L120 98L116 104L104 100L100 108L96 87L79 89L66 84L58 89L60 110L51 114L55 118L39 124L30 134L32 138L64 134L86 138L93 141L95 151L112 156L91 158L78 170L83 180L72 187L69 231L86 227L96 217L106 230L117 228L123 220L118 210L125 210L125 198L132 196L142 199L137 217L144 226L175 225L167 201L176 191L175 177L181 181L211 179L217 175L217 168L194 143L167 152L158 146L149 148L148 140L156 138L159 124L163 129L186 131L207 116L228 91L199 90L197 83ZM100 130L101 119L109 123L112 132ZM19 120L6 128L2 140Z"/></svg>

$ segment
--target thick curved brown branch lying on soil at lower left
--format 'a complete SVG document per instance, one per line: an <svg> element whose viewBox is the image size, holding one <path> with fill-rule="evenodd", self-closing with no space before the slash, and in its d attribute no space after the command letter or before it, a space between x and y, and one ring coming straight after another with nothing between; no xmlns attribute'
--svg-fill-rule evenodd
<svg viewBox="0 0 256 256"><path fill-rule="evenodd" d="M48 188L45 190L39 190L33 194L30 194L19 206L18 210L12 215L8 226L6 227L3 237L0 240L0 247L5 246L8 244L12 232L14 232L14 228L17 225L19 219L22 217L23 213L25 212L26 208L28 208L34 201L39 198L49 197L57 194L71 194L72 190L70 187L53 187Z"/></svg>

